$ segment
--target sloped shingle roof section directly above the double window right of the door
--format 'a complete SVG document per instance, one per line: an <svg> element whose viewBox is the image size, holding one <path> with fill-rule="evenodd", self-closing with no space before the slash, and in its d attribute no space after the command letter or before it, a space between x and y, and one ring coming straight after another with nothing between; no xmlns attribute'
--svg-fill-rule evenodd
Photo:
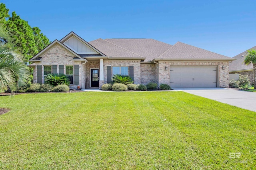
<svg viewBox="0 0 256 170"><path fill-rule="evenodd" d="M108 57L118 57L118 58L142 58L144 57L135 54L132 51L124 49L118 45L115 45L111 42L108 42L104 39L96 39L94 41L89 42L93 45L96 49L107 55Z"/></svg>

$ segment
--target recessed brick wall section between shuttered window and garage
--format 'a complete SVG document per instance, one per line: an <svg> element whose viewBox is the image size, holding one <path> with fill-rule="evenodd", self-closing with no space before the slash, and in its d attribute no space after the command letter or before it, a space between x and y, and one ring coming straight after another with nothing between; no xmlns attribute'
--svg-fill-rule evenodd
<svg viewBox="0 0 256 170"><path fill-rule="evenodd" d="M141 84L149 82L157 83L157 65L156 64L140 64Z"/></svg>

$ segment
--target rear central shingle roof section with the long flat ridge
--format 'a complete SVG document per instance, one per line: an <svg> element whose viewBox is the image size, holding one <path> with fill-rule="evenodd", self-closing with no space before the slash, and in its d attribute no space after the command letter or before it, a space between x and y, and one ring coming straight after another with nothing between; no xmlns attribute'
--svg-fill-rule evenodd
<svg viewBox="0 0 256 170"><path fill-rule="evenodd" d="M172 47L170 44L166 44L154 39L105 39L106 41L113 43L119 47L132 51L142 57L145 57L145 61L151 61L158 57L164 51ZM104 53L104 52L103 52Z"/></svg>

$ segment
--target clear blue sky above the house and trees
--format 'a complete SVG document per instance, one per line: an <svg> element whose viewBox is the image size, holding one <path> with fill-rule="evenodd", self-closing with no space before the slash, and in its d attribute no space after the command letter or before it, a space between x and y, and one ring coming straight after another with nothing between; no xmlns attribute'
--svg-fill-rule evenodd
<svg viewBox="0 0 256 170"><path fill-rule="evenodd" d="M256 45L256 0L0 0L50 39L152 38L234 57Z"/></svg>

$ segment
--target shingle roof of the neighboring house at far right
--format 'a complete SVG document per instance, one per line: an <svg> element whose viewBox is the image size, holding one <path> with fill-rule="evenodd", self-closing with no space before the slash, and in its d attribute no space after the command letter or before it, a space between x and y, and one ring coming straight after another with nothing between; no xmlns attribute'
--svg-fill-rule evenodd
<svg viewBox="0 0 256 170"><path fill-rule="evenodd" d="M255 49L256 50L256 46L248 49L248 50L252 50ZM232 61L231 63L229 63L229 71L236 71L236 70L249 70L249 69L253 69L252 64L249 64L248 66L246 66L243 62L244 59L247 55L247 50L236 55L235 57L233 57L234 59L236 59L235 61ZM243 56L243 57L242 57Z"/></svg>

